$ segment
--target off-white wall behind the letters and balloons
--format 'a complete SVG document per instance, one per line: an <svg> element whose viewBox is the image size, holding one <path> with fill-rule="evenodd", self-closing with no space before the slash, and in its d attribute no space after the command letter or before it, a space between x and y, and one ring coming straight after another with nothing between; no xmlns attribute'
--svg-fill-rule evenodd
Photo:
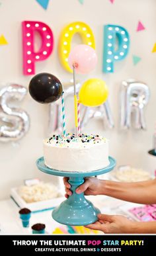
<svg viewBox="0 0 156 256"><path fill-rule="evenodd" d="M98 132L110 139L110 155L116 157L118 165L131 164L153 171L156 159L148 155L147 150L152 147L155 123L156 56L151 53L155 43L155 0L115 0L113 5L108 0L85 0L84 5L77 0L52 0L47 11L34 0L1 0L1 3L0 34L5 35L9 45L0 46L0 82L15 82L28 87L31 77L22 75L21 22L24 20L46 22L54 32L54 52L48 60L38 62L36 73L47 71L63 82L69 81L71 74L61 67L58 60L59 33L69 22L86 22L95 34L98 65L95 71L77 76L77 79L83 81L88 77L99 77L108 83L110 107L116 127L114 130L104 130L100 122L91 121L85 131ZM139 20L146 30L136 32ZM131 36L130 54L121 64L116 64L113 74L102 73L102 31L103 25L108 23L124 26ZM136 66L132 64L132 54L142 58ZM151 91L145 114L146 131L132 129L123 132L118 127L120 83L129 78L144 81ZM67 109L69 104L66 103ZM19 145L0 143L0 198L7 198L10 188L22 184L23 179L40 177L49 181L56 180L55 177L40 173L35 165L36 159L42 155L42 138L46 136L48 128L48 106L34 102L27 95L21 107L30 114L30 130Z"/></svg>

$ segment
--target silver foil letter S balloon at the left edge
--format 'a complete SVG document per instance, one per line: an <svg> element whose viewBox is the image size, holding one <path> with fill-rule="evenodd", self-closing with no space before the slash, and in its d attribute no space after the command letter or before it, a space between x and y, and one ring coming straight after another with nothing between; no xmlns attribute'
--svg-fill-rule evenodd
<svg viewBox="0 0 156 256"><path fill-rule="evenodd" d="M0 141L9 142L22 138L30 127L28 114L11 101L22 101L27 89L22 85L10 84L0 89Z"/></svg>

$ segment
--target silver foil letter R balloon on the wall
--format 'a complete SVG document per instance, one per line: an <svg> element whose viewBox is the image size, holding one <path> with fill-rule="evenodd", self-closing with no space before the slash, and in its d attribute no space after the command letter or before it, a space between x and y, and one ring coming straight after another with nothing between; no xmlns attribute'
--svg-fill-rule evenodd
<svg viewBox="0 0 156 256"><path fill-rule="evenodd" d="M122 81L120 91L120 127L145 129L144 110L149 101L149 87L135 80Z"/></svg>

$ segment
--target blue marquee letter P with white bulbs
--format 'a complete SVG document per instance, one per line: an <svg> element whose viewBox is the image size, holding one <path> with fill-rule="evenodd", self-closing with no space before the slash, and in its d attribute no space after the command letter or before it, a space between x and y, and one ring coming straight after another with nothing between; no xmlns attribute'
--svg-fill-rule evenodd
<svg viewBox="0 0 156 256"><path fill-rule="evenodd" d="M126 28L111 24L104 26L103 71L113 73L114 62L124 60L128 55L129 48L130 36Z"/></svg>

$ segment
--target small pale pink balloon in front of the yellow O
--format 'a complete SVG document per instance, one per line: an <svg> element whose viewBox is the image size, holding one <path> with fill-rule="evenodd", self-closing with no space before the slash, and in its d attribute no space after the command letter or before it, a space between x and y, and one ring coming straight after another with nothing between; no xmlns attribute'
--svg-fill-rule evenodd
<svg viewBox="0 0 156 256"><path fill-rule="evenodd" d="M71 50L68 58L69 66L79 74L89 73L97 65L97 54L91 46L79 44Z"/></svg>

